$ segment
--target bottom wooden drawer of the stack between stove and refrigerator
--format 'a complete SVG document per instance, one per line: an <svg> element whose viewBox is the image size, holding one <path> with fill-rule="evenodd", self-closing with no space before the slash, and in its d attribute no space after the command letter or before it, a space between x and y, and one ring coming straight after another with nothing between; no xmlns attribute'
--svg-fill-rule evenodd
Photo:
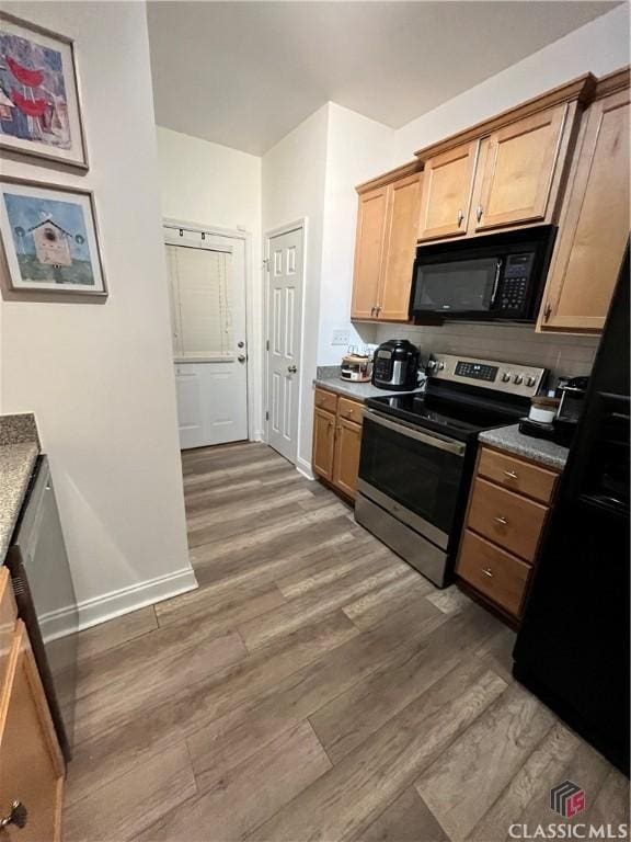
<svg viewBox="0 0 631 842"><path fill-rule="evenodd" d="M532 572L530 565L466 530L456 572L509 614L519 616Z"/></svg>

